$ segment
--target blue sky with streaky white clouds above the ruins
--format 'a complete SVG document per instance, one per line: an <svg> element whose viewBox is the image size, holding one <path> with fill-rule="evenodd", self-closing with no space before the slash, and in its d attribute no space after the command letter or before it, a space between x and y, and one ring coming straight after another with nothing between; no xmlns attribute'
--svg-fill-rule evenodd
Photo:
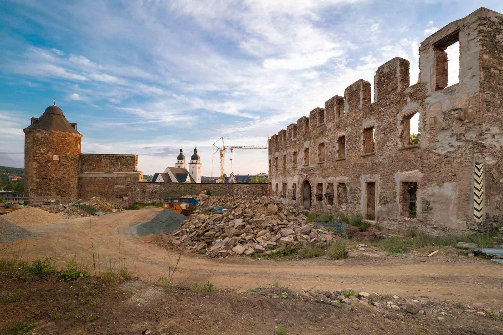
<svg viewBox="0 0 503 335"><path fill-rule="evenodd" d="M415 83L421 41L481 6L503 12L501 1L0 1L0 165L24 166L22 129L56 99L83 152L138 154L153 174L197 146L209 176L220 136L264 145L393 57ZM267 171L266 150L232 158L227 174Z"/></svg>

